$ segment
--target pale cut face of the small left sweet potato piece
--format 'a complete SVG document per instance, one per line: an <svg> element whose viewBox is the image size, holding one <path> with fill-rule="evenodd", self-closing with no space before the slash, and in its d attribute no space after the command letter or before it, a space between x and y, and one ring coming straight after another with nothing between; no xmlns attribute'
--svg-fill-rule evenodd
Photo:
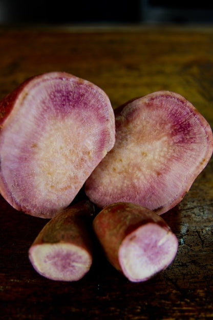
<svg viewBox="0 0 213 320"><path fill-rule="evenodd" d="M78 281L92 265L91 254L70 243L33 245L29 259L40 275L55 281Z"/></svg>

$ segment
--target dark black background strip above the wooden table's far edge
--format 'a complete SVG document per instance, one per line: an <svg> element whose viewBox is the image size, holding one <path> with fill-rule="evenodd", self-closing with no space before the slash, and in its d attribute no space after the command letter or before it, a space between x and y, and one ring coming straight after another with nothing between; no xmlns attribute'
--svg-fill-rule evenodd
<svg viewBox="0 0 213 320"><path fill-rule="evenodd" d="M211 23L212 13L206 0L0 0L0 24Z"/></svg>

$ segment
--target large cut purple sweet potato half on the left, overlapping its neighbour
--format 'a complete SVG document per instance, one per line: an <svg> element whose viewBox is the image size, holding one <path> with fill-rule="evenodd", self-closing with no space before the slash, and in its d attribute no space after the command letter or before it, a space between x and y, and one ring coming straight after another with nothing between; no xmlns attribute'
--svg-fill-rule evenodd
<svg viewBox="0 0 213 320"><path fill-rule="evenodd" d="M115 143L108 96L64 72L28 79L0 103L0 192L51 218L74 199Z"/></svg>

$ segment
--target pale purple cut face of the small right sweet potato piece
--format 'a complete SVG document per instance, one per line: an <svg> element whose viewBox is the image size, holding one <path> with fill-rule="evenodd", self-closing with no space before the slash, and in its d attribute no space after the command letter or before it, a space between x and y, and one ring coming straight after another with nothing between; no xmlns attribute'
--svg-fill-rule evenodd
<svg viewBox="0 0 213 320"><path fill-rule="evenodd" d="M149 223L123 239L118 259L131 282L143 282L171 264L177 250L178 240L171 230Z"/></svg>

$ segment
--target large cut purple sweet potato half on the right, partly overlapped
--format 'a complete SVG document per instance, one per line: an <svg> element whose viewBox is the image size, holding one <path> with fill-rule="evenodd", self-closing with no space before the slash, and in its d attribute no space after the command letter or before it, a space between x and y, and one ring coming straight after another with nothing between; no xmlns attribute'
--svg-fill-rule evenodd
<svg viewBox="0 0 213 320"><path fill-rule="evenodd" d="M212 149L211 128L191 103L154 92L116 111L116 143L85 191L100 208L132 202L162 214L181 201Z"/></svg>

